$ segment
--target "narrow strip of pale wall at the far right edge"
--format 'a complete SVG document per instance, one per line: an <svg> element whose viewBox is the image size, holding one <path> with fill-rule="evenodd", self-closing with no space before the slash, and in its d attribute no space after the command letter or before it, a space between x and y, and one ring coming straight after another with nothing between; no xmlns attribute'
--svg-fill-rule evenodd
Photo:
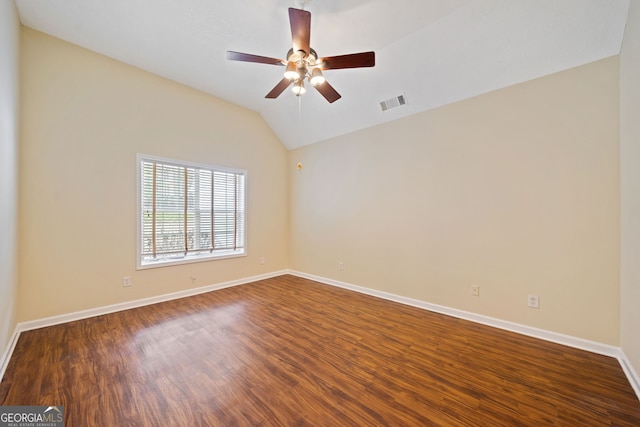
<svg viewBox="0 0 640 427"><path fill-rule="evenodd" d="M632 1L620 55L621 345L640 375L640 4Z"/></svg>

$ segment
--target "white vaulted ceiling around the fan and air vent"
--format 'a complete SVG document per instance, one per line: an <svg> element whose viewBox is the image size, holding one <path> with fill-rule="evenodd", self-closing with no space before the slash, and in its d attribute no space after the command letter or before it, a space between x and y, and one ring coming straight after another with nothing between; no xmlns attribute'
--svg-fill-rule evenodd
<svg viewBox="0 0 640 427"><path fill-rule="evenodd" d="M325 73L342 99L264 96L299 0L15 0L28 27L257 111L289 149L620 52L629 0L313 0L319 56L373 50L375 68ZM406 106L380 101L404 94Z"/></svg>

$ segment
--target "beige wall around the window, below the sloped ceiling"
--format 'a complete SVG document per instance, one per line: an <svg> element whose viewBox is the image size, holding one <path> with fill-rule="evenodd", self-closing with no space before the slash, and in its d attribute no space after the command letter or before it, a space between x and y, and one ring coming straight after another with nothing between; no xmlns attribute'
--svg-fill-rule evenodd
<svg viewBox="0 0 640 427"><path fill-rule="evenodd" d="M20 321L287 267L287 154L258 114L27 28L22 43ZM136 271L136 153L246 169L248 256Z"/></svg>

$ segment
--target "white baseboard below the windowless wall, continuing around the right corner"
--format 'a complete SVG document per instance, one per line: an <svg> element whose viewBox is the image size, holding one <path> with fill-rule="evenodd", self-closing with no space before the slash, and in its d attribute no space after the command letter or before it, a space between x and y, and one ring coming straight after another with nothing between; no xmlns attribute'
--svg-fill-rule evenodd
<svg viewBox="0 0 640 427"><path fill-rule="evenodd" d="M566 345L568 347L577 348L580 350L589 351L591 353L601 354L604 356L610 356L618 359L622 370L624 371L631 387L636 393L636 396L640 400L640 378L638 373L633 369L631 362L624 354L624 351L620 347L615 347L608 344L602 344L596 341L585 340L583 338L577 338L570 335L564 335L557 332L547 331L544 329L538 329L531 326L521 325L519 323L508 322L506 320L496 319L481 314L471 313L464 310L458 310L455 308L445 307L442 305L431 304L425 301L407 298L400 295L395 295L389 292L378 291L375 289L365 288L363 286L353 285L350 283L341 282L338 280L328 279L326 277L315 276L313 274L302 273L295 270L289 270L288 274L302 277L305 279L314 280L316 282L324 283L331 286L336 286L344 289L349 289L355 292L371 295L378 298L383 298L389 301L399 302L401 304L410 305L413 307L421 308L428 311L433 311L440 314L446 314L448 316L457 317L459 319L469 320L471 322L480 323L494 328L504 329L518 334L527 335L533 338L538 338L545 341L551 341L556 344Z"/></svg>

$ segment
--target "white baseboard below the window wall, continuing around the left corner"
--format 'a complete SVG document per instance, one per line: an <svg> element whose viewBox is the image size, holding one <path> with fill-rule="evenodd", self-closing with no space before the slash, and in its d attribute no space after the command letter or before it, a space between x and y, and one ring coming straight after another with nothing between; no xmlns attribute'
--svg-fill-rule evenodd
<svg viewBox="0 0 640 427"><path fill-rule="evenodd" d="M9 360L13 354L13 351L20 338L20 334L25 331L33 329L44 328L47 326L59 325L62 323L73 322L75 320L86 319L89 317L101 316L103 314L115 313L118 311L128 310L136 307L143 307L145 305L156 304L159 302L171 301L174 299L185 298L193 295L204 294L206 292L215 291L218 289L229 288L231 286L244 285L246 283L256 282L258 280L270 279L272 277L282 276L287 274L287 271L274 271L272 273L261 274L258 276L245 277L243 279L231 280L228 282L217 283L214 285L203 286L199 288L186 289L184 291L173 292L164 295L158 295L150 298L143 298L134 301L127 301L118 304L107 305L104 307L96 307L88 310L76 311L68 314L61 314L58 316L45 317L43 319L30 320L27 322L20 322L16 325L11 342L7 346L2 358L0 359L0 381L4 377L5 370L9 364Z"/></svg>

